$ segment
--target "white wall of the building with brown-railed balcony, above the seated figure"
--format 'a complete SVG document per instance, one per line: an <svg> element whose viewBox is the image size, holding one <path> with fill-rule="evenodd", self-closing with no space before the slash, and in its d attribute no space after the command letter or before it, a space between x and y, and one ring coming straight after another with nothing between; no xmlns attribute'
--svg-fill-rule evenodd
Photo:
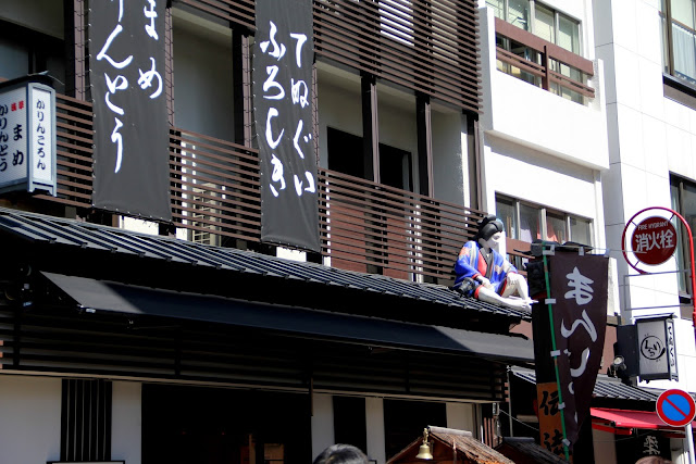
<svg viewBox="0 0 696 464"><path fill-rule="evenodd" d="M585 58L594 53L592 2L549 3L581 21ZM484 115L483 205L496 193L588 218L594 246L605 247L601 173L609 167L602 64L595 61L587 105L534 87L496 67L493 11L480 10Z"/></svg>

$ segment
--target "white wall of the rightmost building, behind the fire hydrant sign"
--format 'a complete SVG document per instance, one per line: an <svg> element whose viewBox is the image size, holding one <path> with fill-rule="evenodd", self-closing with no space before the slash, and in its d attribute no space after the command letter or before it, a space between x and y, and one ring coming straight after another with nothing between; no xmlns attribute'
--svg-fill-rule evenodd
<svg viewBox="0 0 696 464"><path fill-rule="evenodd" d="M621 250L625 223L648 206L670 208L670 172L694 178L696 113L666 99L662 85L660 18L656 1L597 2L597 55L607 67L607 124L610 171L605 175L607 237ZM620 256L617 256L620 258ZM635 275L623 259L622 276ZM650 272L675 269L672 260ZM627 277L624 317L679 313L674 275ZM623 287L623 279L620 280Z"/></svg>

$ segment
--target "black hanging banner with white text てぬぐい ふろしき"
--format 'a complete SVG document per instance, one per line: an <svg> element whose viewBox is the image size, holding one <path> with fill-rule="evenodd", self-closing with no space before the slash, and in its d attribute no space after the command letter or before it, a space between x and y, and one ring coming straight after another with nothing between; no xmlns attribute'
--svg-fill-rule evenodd
<svg viewBox="0 0 696 464"><path fill-rule="evenodd" d="M253 103L261 240L321 251L312 140L312 2L257 0Z"/></svg>

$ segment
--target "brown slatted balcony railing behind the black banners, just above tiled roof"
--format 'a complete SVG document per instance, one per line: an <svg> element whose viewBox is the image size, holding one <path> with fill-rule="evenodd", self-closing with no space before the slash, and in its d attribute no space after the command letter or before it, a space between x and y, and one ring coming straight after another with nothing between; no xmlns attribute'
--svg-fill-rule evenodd
<svg viewBox="0 0 696 464"><path fill-rule="evenodd" d="M90 209L91 104L57 96L58 198ZM172 128L173 223L188 239L225 247L260 242L258 152ZM446 284L482 212L341 173L319 170L322 255L327 264L363 273Z"/></svg>

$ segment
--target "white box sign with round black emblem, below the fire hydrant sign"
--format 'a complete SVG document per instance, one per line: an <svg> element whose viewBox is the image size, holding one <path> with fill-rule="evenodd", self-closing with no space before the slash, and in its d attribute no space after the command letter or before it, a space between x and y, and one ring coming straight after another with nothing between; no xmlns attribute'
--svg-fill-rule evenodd
<svg viewBox="0 0 696 464"><path fill-rule="evenodd" d="M674 321L671 317L644 318L637 319L635 325L641 379L679 379Z"/></svg>

